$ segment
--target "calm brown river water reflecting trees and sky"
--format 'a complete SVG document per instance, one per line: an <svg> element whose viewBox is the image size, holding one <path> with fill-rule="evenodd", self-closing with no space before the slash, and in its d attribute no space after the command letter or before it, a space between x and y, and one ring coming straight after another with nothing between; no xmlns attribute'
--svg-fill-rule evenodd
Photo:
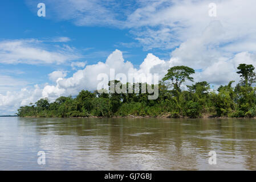
<svg viewBox="0 0 256 182"><path fill-rule="evenodd" d="M256 120L0 118L0 169L256 170Z"/></svg>

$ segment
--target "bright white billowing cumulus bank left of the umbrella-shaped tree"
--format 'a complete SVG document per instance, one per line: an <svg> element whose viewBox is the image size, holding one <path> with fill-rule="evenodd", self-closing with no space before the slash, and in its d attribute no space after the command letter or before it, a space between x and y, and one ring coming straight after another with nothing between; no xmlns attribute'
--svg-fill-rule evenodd
<svg viewBox="0 0 256 182"><path fill-rule="evenodd" d="M105 73L108 75L110 79L110 69L115 69L115 74L124 73L127 78L129 73L133 73L136 77L140 74L151 73L151 68L155 67L155 65L164 64L164 60L160 60L158 57L149 53L148 56L144 59L143 63L140 65L140 69L136 69L133 67L133 64L129 61L124 61L123 54L119 50L115 50L108 56L105 63L98 62L97 64L87 65L86 68L80 69L70 78L61 78L57 81L57 85L55 86L56 90L63 92L66 95L75 95L80 92L82 89L88 90L96 90L97 84L100 82L97 80L97 76L100 73ZM51 89L48 90L48 96L52 96L54 93L55 96L59 96L56 90Z"/></svg>

